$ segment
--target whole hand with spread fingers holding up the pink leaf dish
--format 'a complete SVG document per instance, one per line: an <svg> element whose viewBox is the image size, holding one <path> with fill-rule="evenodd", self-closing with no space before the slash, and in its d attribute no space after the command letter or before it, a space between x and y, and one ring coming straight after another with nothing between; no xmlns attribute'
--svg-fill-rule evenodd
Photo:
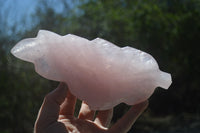
<svg viewBox="0 0 200 133"><path fill-rule="evenodd" d="M50 92L44 99L35 122L34 133L127 133L136 119L147 108L148 101L134 105L120 119L110 125L113 109L95 111L82 102L78 118L74 117L76 97L65 83Z"/></svg>

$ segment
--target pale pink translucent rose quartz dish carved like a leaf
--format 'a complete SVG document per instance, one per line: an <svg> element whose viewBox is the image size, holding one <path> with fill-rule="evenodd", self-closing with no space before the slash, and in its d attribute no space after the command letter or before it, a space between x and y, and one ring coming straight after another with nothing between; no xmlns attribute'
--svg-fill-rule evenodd
<svg viewBox="0 0 200 133"><path fill-rule="evenodd" d="M155 59L132 47L40 30L36 38L17 43L12 54L32 62L41 76L68 84L92 110L119 103L134 105L148 99L156 87L168 89L171 75Z"/></svg>

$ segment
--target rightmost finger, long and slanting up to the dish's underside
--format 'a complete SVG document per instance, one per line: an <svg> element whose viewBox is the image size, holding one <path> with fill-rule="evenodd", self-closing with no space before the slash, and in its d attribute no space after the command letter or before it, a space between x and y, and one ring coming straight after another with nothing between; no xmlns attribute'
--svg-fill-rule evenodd
<svg viewBox="0 0 200 133"><path fill-rule="evenodd" d="M127 133L137 118L147 108L148 101L144 101L140 104L134 105L131 109L114 124L111 128L111 132Z"/></svg>

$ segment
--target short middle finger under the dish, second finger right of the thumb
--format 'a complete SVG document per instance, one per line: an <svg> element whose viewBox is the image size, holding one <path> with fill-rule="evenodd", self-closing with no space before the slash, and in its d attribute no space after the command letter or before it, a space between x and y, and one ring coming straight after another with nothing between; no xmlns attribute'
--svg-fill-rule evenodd
<svg viewBox="0 0 200 133"><path fill-rule="evenodd" d="M87 105L87 103L82 102L78 118L92 121L94 119L94 114L95 114L95 111L91 110L89 106Z"/></svg>

